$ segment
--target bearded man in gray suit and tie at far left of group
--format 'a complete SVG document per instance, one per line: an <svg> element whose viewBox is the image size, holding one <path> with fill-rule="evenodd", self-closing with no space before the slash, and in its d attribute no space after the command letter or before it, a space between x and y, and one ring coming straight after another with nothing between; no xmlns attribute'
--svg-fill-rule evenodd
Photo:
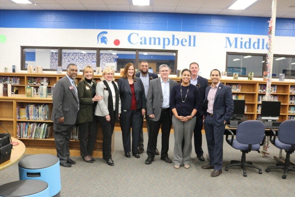
<svg viewBox="0 0 295 197"><path fill-rule="evenodd" d="M67 74L56 82L52 96L54 141L60 165L71 167L76 162L70 158L69 142L76 124L79 99L74 79L78 73L75 64L69 64Z"/></svg>

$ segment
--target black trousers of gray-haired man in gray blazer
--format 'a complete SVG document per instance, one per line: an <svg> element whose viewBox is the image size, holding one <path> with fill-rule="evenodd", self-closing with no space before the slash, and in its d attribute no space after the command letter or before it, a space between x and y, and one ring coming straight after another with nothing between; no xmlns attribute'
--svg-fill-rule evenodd
<svg viewBox="0 0 295 197"><path fill-rule="evenodd" d="M162 111L160 119L158 121L150 121L150 132L148 135L148 148L147 154L148 157L154 158L155 151L157 147L157 139L159 130L162 130L162 150L161 150L161 157L168 157L168 150L169 150L169 136L170 130L172 126L171 120L171 113L170 110Z"/></svg>

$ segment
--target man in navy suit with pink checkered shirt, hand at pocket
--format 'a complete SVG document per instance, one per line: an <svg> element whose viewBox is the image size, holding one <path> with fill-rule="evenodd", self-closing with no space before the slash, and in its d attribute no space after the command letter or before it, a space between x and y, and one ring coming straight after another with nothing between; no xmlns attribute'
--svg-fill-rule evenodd
<svg viewBox="0 0 295 197"><path fill-rule="evenodd" d="M214 69L210 73L211 86L206 88L204 110L204 127L207 139L210 163L203 169L214 169L212 177L222 173L223 134L225 124L229 122L234 110L232 91L230 87L220 83L220 71Z"/></svg>

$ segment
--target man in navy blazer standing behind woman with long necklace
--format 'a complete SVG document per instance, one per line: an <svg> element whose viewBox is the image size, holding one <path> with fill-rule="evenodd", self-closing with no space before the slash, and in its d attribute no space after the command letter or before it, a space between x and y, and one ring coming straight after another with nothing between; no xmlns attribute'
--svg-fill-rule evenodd
<svg viewBox="0 0 295 197"><path fill-rule="evenodd" d="M205 89L209 86L208 79L205 79L198 75L199 64L193 62L189 65L189 70L191 71L191 84L197 86L200 92L200 108L196 114L196 125L194 128L194 145L197 158L204 162L203 149L202 149L202 127L204 120L204 99L205 99Z"/></svg>

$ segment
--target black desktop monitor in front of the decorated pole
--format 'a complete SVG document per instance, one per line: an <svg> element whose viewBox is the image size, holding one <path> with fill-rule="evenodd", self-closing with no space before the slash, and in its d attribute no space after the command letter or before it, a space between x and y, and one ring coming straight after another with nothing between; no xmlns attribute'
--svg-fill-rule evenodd
<svg viewBox="0 0 295 197"><path fill-rule="evenodd" d="M262 101L261 102L261 119L278 120L280 117L280 101Z"/></svg>

